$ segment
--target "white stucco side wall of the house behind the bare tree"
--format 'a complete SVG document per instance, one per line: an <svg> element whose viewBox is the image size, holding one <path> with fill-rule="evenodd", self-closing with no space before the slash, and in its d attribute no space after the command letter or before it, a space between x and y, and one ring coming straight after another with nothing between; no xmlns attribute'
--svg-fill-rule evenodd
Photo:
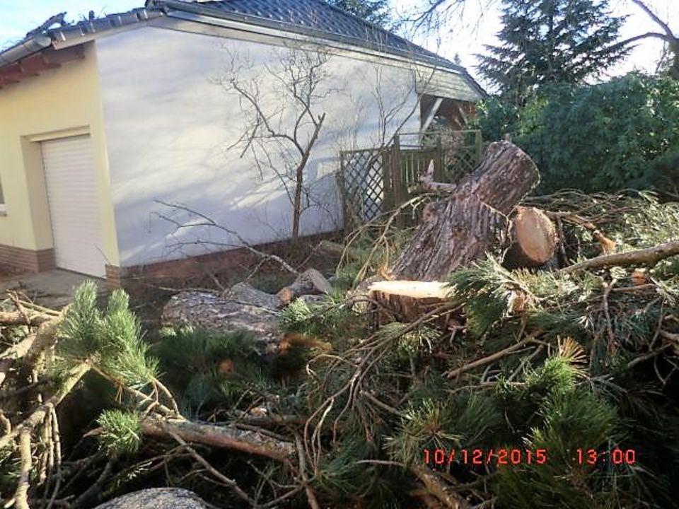
<svg viewBox="0 0 679 509"><path fill-rule="evenodd" d="M240 158L238 148L227 150L243 133L246 120L238 96L216 83L228 76L229 53L253 64L239 74L247 83L248 73L266 78L264 64L275 65L274 52L284 50L151 27L96 44L121 265L206 250L205 245L178 249L178 242L238 244L233 235L214 228L175 231L158 214L169 213L180 222L187 216L168 211L156 200L204 213L251 243L289 238L292 207L279 180L273 175L260 178L252 158ZM339 151L380 143L377 89L383 111L395 109L389 136L413 111L405 130L419 128L412 71L406 67L333 55L325 69L329 76L320 91L335 91L316 108L327 117L306 170L320 205L303 213L302 235L341 226L334 175ZM260 81L267 108L277 107L279 88L270 78Z"/></svg>

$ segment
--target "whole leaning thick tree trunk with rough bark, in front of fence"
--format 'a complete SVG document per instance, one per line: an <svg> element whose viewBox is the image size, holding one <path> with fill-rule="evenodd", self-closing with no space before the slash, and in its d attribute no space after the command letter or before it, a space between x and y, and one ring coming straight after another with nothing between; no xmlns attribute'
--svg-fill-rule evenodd
<svg viewBox="0 0 679 509"><path fill-rule="evenodd" d="M451 187L450 197L426 208L391 275L439 281L486 252L504 251L510 240L507 215L539 181L538 168L521 148L509 141L491 144L472 175Z"/></svg>

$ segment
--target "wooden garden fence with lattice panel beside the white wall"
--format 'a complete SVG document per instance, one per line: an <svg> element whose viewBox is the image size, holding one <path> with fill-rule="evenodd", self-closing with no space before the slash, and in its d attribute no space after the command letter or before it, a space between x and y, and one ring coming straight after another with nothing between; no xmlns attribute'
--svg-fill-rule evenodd
<svg viewBox="0 0 679 509"><path fill-rule="evenodd" d="M481 131L397 134L379 148L340 152L344 226L355 228L410 199L408 187L434 161L437 182L457 182L480 162Z"/></svg>

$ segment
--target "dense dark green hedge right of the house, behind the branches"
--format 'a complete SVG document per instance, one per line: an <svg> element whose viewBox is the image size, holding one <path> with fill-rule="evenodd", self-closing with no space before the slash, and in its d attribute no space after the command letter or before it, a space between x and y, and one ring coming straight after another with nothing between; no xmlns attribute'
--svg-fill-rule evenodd
<svg viewBox="0 0 679 509"><path fill-rule="evenodd" d="M526 107L477 107L489 141L505 134L540 168L538 192L655 188L679 181L679 82L628 74L592 86L545 86Z"/></svg>

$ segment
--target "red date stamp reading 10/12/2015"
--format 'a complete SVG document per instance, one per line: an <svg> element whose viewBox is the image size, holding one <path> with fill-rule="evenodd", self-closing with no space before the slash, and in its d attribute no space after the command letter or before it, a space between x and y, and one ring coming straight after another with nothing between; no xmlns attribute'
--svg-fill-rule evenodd
<svg viewBox="0 0 679 509"><path fill-rule="evenodd" d="M424 449L424 462L428 465L459 464L545 464L546 449Z"/></svg>

